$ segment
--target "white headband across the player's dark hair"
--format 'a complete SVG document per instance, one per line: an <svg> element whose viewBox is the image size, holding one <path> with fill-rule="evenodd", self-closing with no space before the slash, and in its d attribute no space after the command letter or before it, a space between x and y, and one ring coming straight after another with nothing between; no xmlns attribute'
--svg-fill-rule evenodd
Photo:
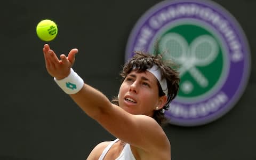
<svg viewBox="0 0 256 160"><path fill-rule="evenodd" d="M156 77L156 79L158 80L158 82L162 87L163 92L165 93L165 95L168 95L166 79L165 78L162 79L161 70L156 65L154 65L152 68L148 68L147 71L149 71L151 74L153 74Z"/></svg>

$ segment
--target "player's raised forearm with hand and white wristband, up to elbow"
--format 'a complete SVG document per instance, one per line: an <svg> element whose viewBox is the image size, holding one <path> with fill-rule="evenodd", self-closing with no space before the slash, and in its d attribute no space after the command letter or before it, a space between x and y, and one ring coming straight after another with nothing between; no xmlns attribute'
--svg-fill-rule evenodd
<svg viewBox="0 0 256 160"><path fill-rule="evenodd" d="M77 52L77 49L72 49L68 53L68 57L61 54L59 60L50 46L45 44L43 53L46 69L61 89L69 94L86 114L95 117L101 113L106 113L111 108L111 102L108 98L93 87L84 84L83 79L73 69L70 69L74 64Z"/></svg>

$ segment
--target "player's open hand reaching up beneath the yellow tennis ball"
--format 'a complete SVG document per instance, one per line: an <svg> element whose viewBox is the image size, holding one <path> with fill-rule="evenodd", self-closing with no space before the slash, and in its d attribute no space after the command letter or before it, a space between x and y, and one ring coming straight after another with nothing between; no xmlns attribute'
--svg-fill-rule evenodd
<svg viewBox="0 0 256 160"><path fill-rule="evenodd" d="M68 57L65 54L60 55L60 60L53 50L50 49L48 44L43 48L45 66L48 73L56 79L63 79L70 73L70 68L75 62L75 54L78 53L77 49L72 49L68 53Z"/></svg>

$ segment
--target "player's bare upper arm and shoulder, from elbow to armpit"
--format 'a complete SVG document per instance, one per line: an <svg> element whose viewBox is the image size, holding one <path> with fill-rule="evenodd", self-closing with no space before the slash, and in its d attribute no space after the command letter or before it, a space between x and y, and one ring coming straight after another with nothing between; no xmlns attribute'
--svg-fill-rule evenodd
<svg viewBox="0 0 256 160"><path fill-rule="evenodd" d="M133 115L112 105L95 119L115 137L143 150L169 145L162 127L149 116Z"/></svg>

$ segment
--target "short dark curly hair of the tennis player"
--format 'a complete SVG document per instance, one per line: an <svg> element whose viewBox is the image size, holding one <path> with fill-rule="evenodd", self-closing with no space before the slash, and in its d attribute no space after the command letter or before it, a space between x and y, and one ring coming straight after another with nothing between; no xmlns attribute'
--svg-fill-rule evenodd
<svg viewBox="0 0 256 160"><path fill-rule="evenodd" d="M152 68L154 65L158 66L161 70L162 78L166 79L168 95L167 102L165 103L163 109L168 110L170 102L176 97L179 91L179 73L173 69L175 64L169 60L169 62L163 60L162 54L149 54L146 52L134 52L134 56L129 59L123 66L123 70L120 75L122 76L121 83L123 83L125 77L131 73L132 70L137 71L138 73L145 72L147 69ZM158 82L158 95L162 97L165 93L162 90L160 83ZM114 97L111 101L115 105L118 104L118 98ZM169 119L164 116L163 109L155 110L153 118L159 125L166 124Z"/></svg>

